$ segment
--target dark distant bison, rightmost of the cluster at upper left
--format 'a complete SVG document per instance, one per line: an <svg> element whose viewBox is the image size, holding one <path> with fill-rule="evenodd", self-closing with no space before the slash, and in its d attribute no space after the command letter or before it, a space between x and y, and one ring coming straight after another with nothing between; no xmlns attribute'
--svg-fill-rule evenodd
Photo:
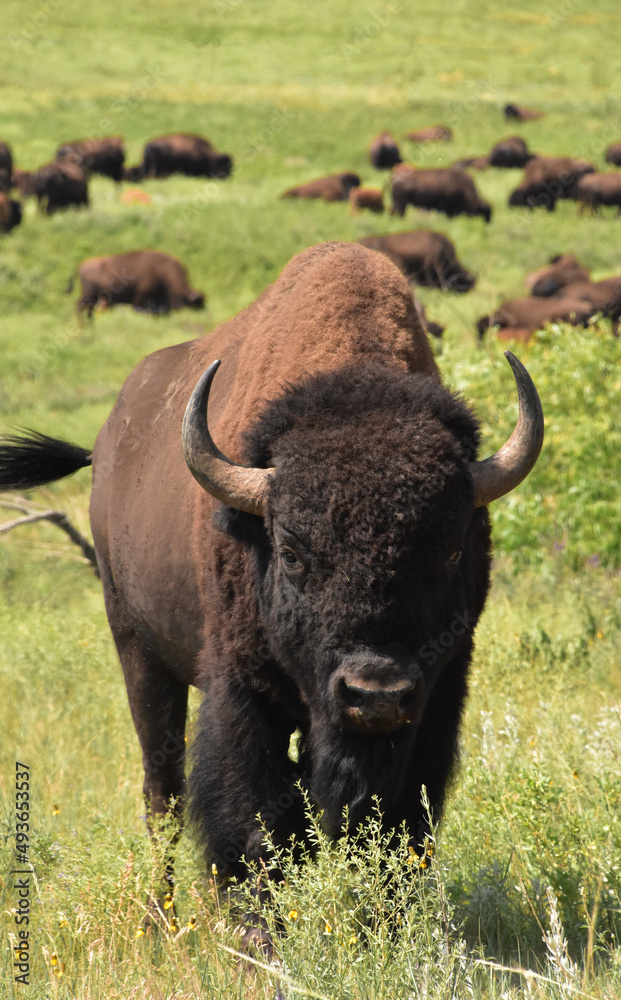
<svg viewBox="0 0 621 1000"><path fill-rule="evenodd" d="M223 179L230 177L232 169L229 154L217 153L208 139L175 132L151 139L144 147L142 163L129 167L123 176L131 181L171 174Z"/></svg>

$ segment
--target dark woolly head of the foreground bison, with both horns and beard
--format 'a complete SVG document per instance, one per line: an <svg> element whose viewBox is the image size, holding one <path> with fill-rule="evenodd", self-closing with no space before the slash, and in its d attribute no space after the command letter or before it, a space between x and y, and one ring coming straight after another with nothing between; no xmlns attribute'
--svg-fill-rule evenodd
<svg viewBox="0 0 621 1000"><path fill-rule="evenodd" d="M252 553L269 657L293 682L310 786L335 834L344 806L357 822L380 788L390 814L417 740L433 739L434 698L459 714L488 587L485 505L541 447L536 391L510 361L521 415L485 462L460 400L385 364L315 375L269 403L246 439L253 468L230 463L209 434L218 362L188 405L186 461L244 512L230 530Z"/></svg>

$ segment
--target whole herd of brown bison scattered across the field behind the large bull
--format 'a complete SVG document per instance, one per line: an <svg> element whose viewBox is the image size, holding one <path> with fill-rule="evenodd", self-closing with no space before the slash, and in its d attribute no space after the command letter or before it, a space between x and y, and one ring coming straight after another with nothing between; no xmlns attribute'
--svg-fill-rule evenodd
<svg viewBox="0 0 621 1000"><path fill-rule="evenodd" d="M530 121L541 117L532 108L507 104L504 116L510 121ZM452 130L444 125L407 132L405 140L414 144L450 142ZM486 154L462 158L452 166L421 167L404 162L397 140L389 131L380 132L368 146L368 159L376 170L390 171L384 189L367 187L361 176L346 170L304 181L282 192L286 199L348 202L350 212L382 213L385 196L391 197L391 213L402 218L409 206L441 212L449 218L479 216L489 223L492 205L484 200L469 170L504 168L524 170L522 181L509 195L511 208L544 208L554 211L559 199L573 199L579 211L595 214L602 207L616 207L621 213L621 173L598 173L588 160L550 157L532 152L519 135L496 142ZM621 142L613 142L605 159L621 166ZM0 232L8 233L22 220L22 204L12 197L36 198L44 215L70 206L88 206L88 181L100 174L117 184L166 178L172 174L225 179L231 176L233 159L218 152L208 139L194 134L171 133L151 139L144 146L141 162L127 167L121 136L65 142L56 157L38 170L14 166L11 150L0 142ZM151 197L139 188L126 191L123 204L150 204ZM441 233L421 229L410 232L368 236L360 242L389 257L408 281L418 285L463 293L474 287L475 277L458 260L455 247ZM172 309L204 307L205 296L188 283L184 265L169 254L154 250L93 257L79 268L82 286L77 302L79 313L91 317L95 308L125 303L139 311L166 313ZM531 276L532 277L532 276ZM609 278L592 282L589 272L571 254L554 258L527 287L531 296L505 302L481 317L477 333L481 338L490 326L499 327L500 339L527 340L548 320L586 323L596 313L612 320L617 334L621 316L618 284ZM543 301L547 299L548 301ZM420 307L419 307L420 308ZM421 312L427 331L435 336L443 327Z"/></svg>

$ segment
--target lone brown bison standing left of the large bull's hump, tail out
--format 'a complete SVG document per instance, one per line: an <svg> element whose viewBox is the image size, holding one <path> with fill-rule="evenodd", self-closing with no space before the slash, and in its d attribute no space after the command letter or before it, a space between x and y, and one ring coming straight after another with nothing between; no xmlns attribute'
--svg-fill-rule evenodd
<svg viewBox="0 0 621 1000"><path fill-rule="evenodd" d="M205 296L188 284L181 261L159 250L132 250L109 257L89 257L80 264L82 295L78 313L95 306L131 305L139 312L167 313L171 309L203 309Z"/></svg>

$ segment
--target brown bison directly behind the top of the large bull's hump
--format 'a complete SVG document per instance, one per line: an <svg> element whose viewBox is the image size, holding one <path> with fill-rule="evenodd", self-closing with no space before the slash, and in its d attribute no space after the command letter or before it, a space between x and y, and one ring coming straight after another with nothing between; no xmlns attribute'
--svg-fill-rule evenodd
<svg viewBox="0 0 621 1000"><path fill-rule="evenodd" d="M453 243L443 233L416 229L411 233L365 236L360 242L370 250L386 254L408 281L417 285L451 292L474 288L474 275L459 262Z"/></svg>

